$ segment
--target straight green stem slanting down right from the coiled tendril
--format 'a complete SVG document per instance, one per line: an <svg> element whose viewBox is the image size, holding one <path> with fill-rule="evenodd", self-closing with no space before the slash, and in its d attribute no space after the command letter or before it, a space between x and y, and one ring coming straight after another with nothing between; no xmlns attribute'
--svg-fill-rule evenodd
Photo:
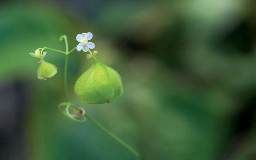
<svg viewBox="0 0 256 160"><path fill-rule="evenodd" d="M128 149L131 153L139 157L139 153L135 151L132 147L130 147L127 143L125 143L122 139L118 138L116 135L114 135L112 132L108 131L107 128L103 127L99 122L97 122L94 118L89 116L85 113L86 118L88 118L92 123L94 123L97 127L99 127L102 131L107 133L108 136L112 137L114 140L116 140L118 143L123 145L126 149Z"/></svg>

